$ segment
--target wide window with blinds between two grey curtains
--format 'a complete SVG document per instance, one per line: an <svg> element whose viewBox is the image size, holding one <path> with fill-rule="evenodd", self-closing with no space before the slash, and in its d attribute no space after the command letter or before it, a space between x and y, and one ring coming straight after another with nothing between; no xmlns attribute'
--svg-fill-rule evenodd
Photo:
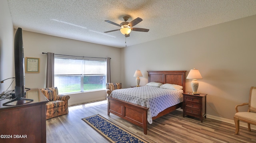
<svg viewBox="0 0 256 143"><path fill-rule="evenodd" d="M106 60L54 58L54 86L59 94L106 88Z"/></svg>

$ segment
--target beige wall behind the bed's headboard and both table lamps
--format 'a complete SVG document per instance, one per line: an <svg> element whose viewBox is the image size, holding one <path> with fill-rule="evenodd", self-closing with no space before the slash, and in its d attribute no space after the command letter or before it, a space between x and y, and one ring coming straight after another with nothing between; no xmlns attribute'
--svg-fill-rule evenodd
<svg viewBox="0 0 256 143"><path fill-rule="evenodd" d="M133 74L142 71L199 69L198 92L207 95L207 114L233 119L235 106L248 102L256 86L256 15L122 49L122 86L135 85ZM147 33L145 33L146 36ZM186 91L192 91L186 79ZM246 111L242 108L241 111Z"/></svg>

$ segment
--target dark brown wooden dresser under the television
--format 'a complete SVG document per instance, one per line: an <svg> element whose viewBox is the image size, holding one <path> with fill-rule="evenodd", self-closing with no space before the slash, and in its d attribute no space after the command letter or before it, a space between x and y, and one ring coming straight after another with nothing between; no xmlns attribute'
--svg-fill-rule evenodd
<svg viewBox="0 0 256 143"><path fill-rule="evenodd" d="M34 101L15 101L10 103L13 106L3 106L11 99L0 100L0 143L46 143L48 100L38 88L28 90L26 98Z"/></svg>

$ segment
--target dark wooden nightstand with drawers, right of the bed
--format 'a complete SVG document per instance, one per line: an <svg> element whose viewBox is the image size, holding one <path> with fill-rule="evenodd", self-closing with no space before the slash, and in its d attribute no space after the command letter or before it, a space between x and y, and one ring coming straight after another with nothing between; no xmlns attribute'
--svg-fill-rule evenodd
<svg viewBox="0 0 256 143"><path fill-rule="evenodd" d="M192 92L184 92L183 94L183 117L185 115L199 118L203 122L203 116L206 118L206 95L200 93L194 95Z"/></svg>

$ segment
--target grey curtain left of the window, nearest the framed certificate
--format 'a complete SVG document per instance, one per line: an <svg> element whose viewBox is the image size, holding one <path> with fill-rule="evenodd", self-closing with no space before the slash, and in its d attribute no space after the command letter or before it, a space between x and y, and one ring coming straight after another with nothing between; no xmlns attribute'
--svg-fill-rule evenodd
<svg viewBox="0 0 256 143"><path fill-rule="evenodd" d="M54 87L54 53L47 53L46 88Z"/></svg>

